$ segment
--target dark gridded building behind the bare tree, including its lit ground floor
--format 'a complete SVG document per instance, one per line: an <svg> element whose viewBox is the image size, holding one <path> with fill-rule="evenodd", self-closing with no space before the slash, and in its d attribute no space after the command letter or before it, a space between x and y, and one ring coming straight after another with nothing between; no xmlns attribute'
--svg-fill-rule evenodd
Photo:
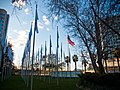
<svg viewBox="0 0 120 90"><path fill-rule="evenodd" d="M120 34L120 14L112 17L107 17L104 21ZM115 34L105 24L100 23L103 39L103 48L107 52L107 67L109 71L118 71L118 61L115 56L115 50L120 50L120 36ZM105 53L104 53L105 54ZM118 55L120 60L120 55Z"/></svg>

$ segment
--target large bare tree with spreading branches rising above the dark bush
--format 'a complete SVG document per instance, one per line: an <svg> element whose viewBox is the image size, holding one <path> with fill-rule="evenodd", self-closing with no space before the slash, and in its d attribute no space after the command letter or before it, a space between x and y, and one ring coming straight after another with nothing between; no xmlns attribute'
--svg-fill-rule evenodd
<svg viewBox="0 0 120 90"><path fill-rule="evenodd" d="M104 68L102 64L102 31L99 23L106 24L104 18L115 12L117 14L118 11L115 11L117 3L119 4L118 0L112 3L111 0L48 0L50 14L58 16L59 21L64 21L63 25L69 33L74 38L83 41L82 44L81 42L79 44L87 49L95 72L101 74L104 73ZM112 6L114 6L113 10ZM109 25L107 24L107 26ZM111 32L115 32L114 29L109 28Z"/></svg>

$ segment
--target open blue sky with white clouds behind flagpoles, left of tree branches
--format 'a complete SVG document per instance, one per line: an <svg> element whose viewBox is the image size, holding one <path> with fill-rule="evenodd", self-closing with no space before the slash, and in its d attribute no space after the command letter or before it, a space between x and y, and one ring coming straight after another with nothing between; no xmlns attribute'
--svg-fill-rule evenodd
<svg viewBox="0 0 120 90"><path fill-rule="evenodd" d="M31 22L34 23L34 14L35 14L35 0L30 0L30 4L24 5L21 9L14 7L11 3L12 0L0 0L0 8L5 9L10 15L7 39L10 43L13 44L14 50L14 60L15 65L21 65L22 56L24 52L24 47L28 39ZM48 17L48 10L43 4L42 0L36 0L38 3L38 29L39 33L36 34L36 43L35 43L35 53L38 49L43 46L45 41L47 41L47 53L49 53L49 37L51 35L52 40L52 52L56 52L56 40L57 40L57 26L59 31L59 46L63 46L63 51L68 55L68 44L67 44L67 33L61 24L57 23L57 16L53 15L54 23ZM71 38L73 42L75 40ZM70 46L71 55L76 54L74 51L75 46ZM59 47L60 53L60 47ZM43 51L44 54L44 51ZM74 63L71 62L71 67L74 69ZM81 63L78 62L78 68L81 68Z"/></svg>

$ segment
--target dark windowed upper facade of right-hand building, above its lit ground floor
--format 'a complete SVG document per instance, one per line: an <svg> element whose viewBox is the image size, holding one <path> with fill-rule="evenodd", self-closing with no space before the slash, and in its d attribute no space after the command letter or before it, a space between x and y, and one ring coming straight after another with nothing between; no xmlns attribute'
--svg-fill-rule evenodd
<svg viewBox="0 0 120 90"><path fill-rule="evenodd" d="M113 17L108 17L104 20L110 27L120 33L120 14ZM101 29L103 31L103 46L105 51L109 53L116 49L120 48L120 36L115 34L109 27L102 24ZM113 58L112 54L109 54L109 58Z"/></svg>

